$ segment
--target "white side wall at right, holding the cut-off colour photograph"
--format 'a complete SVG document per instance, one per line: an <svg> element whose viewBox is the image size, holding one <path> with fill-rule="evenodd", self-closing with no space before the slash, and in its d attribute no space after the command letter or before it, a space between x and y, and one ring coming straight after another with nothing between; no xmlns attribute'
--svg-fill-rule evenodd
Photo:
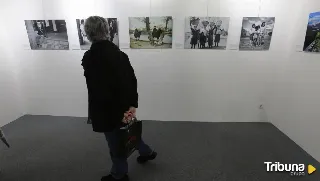
<svg viewBox="0 0 320 181"><path fill-rule="evenodd" d="M265 110L270 122L320 161L320 54L294 51L303 45L308 14L319 12L320 1L290 1L284 9L293 26L284 31L291 50L276 63Z"/></svg>

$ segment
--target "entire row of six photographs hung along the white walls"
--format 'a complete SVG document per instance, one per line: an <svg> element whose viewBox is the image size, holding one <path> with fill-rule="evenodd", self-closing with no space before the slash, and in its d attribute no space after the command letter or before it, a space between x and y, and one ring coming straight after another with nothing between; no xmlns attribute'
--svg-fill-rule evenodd
<svg viewBox="0 0 320 181"><path fill-rule="evenodd" d="M106 18L110 41L119 46L117 18ZM185 23L185 49L225 50L229 30L228 17L188 17ZM91 42L84 31L85 19L77 19L80 48L90 49ZM26 20L26 29L33 50L68 50L68 35L64 20ZM274 17L244 17L239 50L269 50ZM129 36L132 49L172 48L173 19L163 17L130 17ZM311 13L303 50L320 52L320 12Z"/></svg>

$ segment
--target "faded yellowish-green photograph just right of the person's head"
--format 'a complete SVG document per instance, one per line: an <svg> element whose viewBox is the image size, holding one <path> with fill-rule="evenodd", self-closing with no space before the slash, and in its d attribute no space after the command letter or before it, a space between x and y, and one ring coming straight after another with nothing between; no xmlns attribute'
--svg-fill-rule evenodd
<svg viewBox="0 0 320 181"><path fill-rule="evenodd" d="M130 17L129 34L132 49L172 48L171 16Z"/></svg>

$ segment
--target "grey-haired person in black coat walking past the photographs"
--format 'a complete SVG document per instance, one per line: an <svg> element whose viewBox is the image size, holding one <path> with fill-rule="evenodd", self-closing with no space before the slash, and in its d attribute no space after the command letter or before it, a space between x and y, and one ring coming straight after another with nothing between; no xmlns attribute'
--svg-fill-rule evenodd
<svg viewBox="0 0 320 181"><path fill-rule="evenodd" d="M93 131L103 133L112 160L111 173L101 181L128 181L127 155L123 150L120 128L128 123L129 114L136 116L138 108L137 79L129 57L110 41L108 22L91 16L85 22L85 32L92 42L82 59L88 89L89 119ZM138 145L138 163L156 158L142 140Z"/></svg>

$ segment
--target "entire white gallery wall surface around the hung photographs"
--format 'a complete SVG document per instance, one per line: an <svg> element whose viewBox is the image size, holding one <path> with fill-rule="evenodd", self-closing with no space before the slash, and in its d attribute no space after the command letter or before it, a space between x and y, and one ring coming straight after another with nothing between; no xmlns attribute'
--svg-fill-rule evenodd
<svg viewBox="0 0 320 181"><path fill-rule="evenodd" d="M87 116L77 18L116 17L144 120L271 121L320 160L320 55L302 49L318 0L0 0L0 125L22 113ZM2 6L4 4L4 6ZM129 49L128 17L173 16L173 49ZM230 17L227 50L184 50L187 16ZM276 17L269 51L238 51L243 17ZM28 50L24 20L65 19L70 50ZM4 27L3 27L4 26ZM30 49L30 48L29 48ZM5 82L5 83L2 83ZM19 98L19 99L18 99ZM5 102L3 104L2 102ZM259 109L259 105L264 110ZM2 112L3 111L3 112ZM3 121L2 121L3 120ZM2 121L2 122L1 122Z"/></svg>

